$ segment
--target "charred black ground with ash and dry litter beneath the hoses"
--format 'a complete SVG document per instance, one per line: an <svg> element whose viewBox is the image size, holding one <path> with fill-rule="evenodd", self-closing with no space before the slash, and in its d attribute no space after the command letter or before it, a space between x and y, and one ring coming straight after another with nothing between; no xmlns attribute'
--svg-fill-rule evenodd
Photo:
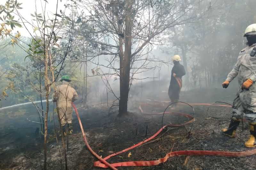
<svg viewBox="0 0 256 170"><path fill-rule="evenodd" d="M194 101L194 100L193 100ZM149 104L152 102L147 101ZM207 102L207 101L204 101ZM135 104L137 108L138 103ZM78 106L79 107L79 106ZM165 106L144 107L147 113L163 112ZM195 106L195 122L188 138L191 124L179 128L169 127L152 141L141 145L128 152L124 152L111 159L109 163L134 160L156 160L163 158L171 151L180 150L212 150L242 152L250 150L244 147L244 142L249 137L248 123L239 126L236 138L229 138L221 134L221 128L228 126L231 108L212 106L207 113L206 106ZM190 107L179 105L177 112L192 114ZM162 115L141 114L139 110L133 110L127 116L118 117L116 108L108 112L106 105L95 105L86 109L79 109L86 137L92 149L102 157L113 152L118 152L155 134L161 128ZM75 116L75 115L74 115ZM179 115L164 115L164 124L182 124L188 118ZM67 152L69 169L102 169L93 167L97 159L92 156L84 145L79 125L74 117L74 134L69 136L69 148ZM29 130L28 130L29 131ZM136 134L137 131L137 134ZM53 132L51 132L53 134ZM2 141L8 141L10 136L1 137ZM23 137L26 139L26 137ZM43 150L40 139L20 138L15 140L12 149L2 147L0 152L0 169L43 169ZM29 140L28 140L29 139ZM48 142L48 169L65 169L63 156L60 159L61 144L50 137ZM128 154L131 152L131 156ZM62 153L61 153L62 154ZM118 167L118 169L255 169L256 156L228 158L217 156L177 156L168 159L158 166L147 167Z"/></svg>

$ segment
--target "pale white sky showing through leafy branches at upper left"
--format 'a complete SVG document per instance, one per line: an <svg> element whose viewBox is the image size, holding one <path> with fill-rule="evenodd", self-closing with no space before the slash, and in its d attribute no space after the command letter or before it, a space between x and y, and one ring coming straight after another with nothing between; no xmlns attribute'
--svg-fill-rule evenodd
<svg viewBox="0 0 256 170"><path fill-rule="evenodd" d="M4 5L5 2L6 2L6 0L0 0L1 5ZM20 7L23 8L23 9L19 9L20 15L23 16L28 22L30 22L30 23L33 22L33 23L35 23L34 25L37 25L36 22L32 20L34 17L32 17L30 14L35 15L36 9L37 9L37 14L43 13L41 3L44 6L45 1L44 0L18 0L18 2L22 3L20 5ZM48 19L48 18L53 19L53 18L55 18L53 16L53 13L55 14L55 12L56 12L57 0L47 0L47 2L48 3L46 3L46 13L45 13L46 19ZM60 2L60 0L59 0L59 3L58 3L58 13L59 14L60 14L60 10L62 10L62 11L65 10L64 4L67 4L67 3L71 4L71 2L69 0L62 0L62 2ZM19 16L15 16L15 20L18 20L18 19L19 19ZM19 20L19 21L21 22L21 20ZM0 21L0 23L1 23L1 21ZM13 32L17 32L17 30L19 30L21 33L21 36L31 37L30 34L28 33L28 31L26 30L26 28L24 28L23 24L22 23L20 23L20 24L22 25L22 28L17 27L16 29L13 30ZM34 29L30 24L26 23L26 27L28 28L29 32L32 35L35 35L35 33L33 33Z"/></svg>

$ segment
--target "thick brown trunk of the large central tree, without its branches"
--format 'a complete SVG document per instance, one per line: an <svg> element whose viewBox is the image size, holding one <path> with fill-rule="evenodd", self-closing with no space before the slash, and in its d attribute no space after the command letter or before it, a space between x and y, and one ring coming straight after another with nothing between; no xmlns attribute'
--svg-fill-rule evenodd
<svg viewBox="0 0 256 170"><path fill-rule="evenodd" d="M124 60L120 59L120 100L119 100L119 115L127 113L127 102L130 84L130 68L132 55L132 4L133 1L126 2L125 16L125 42L124 42ZM122 65L121 65L122 63ZM121 71L122 70L122 71Z"/></svg>

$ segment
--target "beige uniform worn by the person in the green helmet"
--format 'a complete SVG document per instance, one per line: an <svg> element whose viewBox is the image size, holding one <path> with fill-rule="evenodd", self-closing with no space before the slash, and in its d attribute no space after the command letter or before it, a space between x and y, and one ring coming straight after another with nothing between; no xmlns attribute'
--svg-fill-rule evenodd
<svg viewBox="0 0 256 170"><path fill-rule="evenodd" d="M56 87L54 100L57 100L57 109L59 110L61 125L72 123L72 105L71 102L78 99L76 90L68 82L62 81L62 85Z"/></svg>

